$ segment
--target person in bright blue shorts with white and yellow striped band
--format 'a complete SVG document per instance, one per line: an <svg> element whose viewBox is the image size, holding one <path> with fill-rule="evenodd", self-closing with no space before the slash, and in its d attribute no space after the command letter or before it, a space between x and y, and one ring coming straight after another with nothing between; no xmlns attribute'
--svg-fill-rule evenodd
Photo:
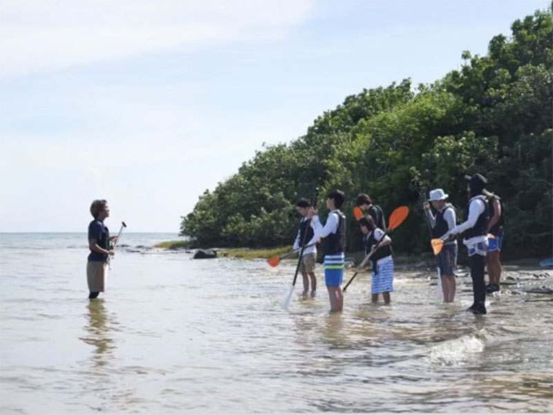
<svg viewBox="0 0 553 415"><path fill-rule="evenodd" d="M344 297L341 283L344 279L344 250L346 248L346 216L340 212L346 200L344 192L335 190L326 197L326 208L330 210L324 225L319 221L317 210L309 208L308 218L312 219L315 238L322 238L324 251L324 279L330 299L330 311L341 311Z"/></svg>

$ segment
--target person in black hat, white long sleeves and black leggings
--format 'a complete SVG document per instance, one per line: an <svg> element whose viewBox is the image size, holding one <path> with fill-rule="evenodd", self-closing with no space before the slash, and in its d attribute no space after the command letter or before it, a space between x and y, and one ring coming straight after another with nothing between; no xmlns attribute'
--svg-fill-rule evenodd
<svg viewBox="0 0 553 415"><path fill-rule="evenodd" d="M487 179L481 174L465 176L468 182L469 205L465 214L465 222L449 231L447 237L462 234L463 243L469 250L471 267L472 291L474 302L469 311L474 314L486 314L486 286L484 268L488 250L489 209L486 197L482 194Z"/></svg>

